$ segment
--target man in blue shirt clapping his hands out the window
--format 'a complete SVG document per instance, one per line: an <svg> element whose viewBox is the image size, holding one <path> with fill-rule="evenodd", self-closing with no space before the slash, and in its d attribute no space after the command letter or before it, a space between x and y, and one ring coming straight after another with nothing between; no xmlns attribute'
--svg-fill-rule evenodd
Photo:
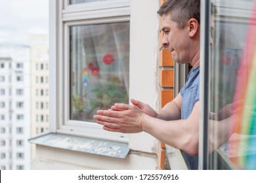
<svg viewBox="0 0 256 183"><path fill-rule="evenodd" d="M98 110L94 118L107 131L150 133L156 139L181 149L188 168L198 169L200 0L168 0L158 14L163 18L162 45L169 48L177 63L190 63L193 67L186 84L159 113L131 99L133 105L117 103L112 110ZM212 14L215 14L215 8L212 8Z"/></svg>

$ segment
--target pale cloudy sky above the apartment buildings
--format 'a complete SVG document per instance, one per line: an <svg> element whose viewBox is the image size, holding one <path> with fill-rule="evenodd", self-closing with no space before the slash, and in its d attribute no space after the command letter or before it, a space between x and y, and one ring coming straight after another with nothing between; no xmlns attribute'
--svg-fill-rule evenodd
<svg viewBox="0 0 256 183"><path fill-rule="evenodd" d="M0 44L28 44L32 35L49 34L49 1L1 0Z"/></svg>

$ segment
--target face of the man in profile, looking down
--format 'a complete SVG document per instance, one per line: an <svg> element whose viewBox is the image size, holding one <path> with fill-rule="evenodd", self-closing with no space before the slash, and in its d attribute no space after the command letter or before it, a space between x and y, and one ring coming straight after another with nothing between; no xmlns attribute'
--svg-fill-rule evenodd
<svg viewBox="0 0 256 183"><path fill-rule="evenodd" d="M169 48L173 59L177 63L188 63L188 40L189 30L186 26L182 29L177 27L177 23L171 20L171 14L163 14L163 23L161 31L163 31L162 46Z"/></svg>

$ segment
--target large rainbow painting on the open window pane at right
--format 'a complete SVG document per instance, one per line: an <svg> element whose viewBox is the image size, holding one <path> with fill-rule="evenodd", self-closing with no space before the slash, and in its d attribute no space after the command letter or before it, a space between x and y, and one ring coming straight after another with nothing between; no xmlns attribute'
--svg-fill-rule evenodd
<svg viewBox="0 0 256 183"><path fill-rule="evenodd" d="M241 65L238 70L234 115L230 135L244 135L228 142L228 157L238 169L256 169L256 1L249 22ZM234 152L236 156L234 156Z"/></svg>

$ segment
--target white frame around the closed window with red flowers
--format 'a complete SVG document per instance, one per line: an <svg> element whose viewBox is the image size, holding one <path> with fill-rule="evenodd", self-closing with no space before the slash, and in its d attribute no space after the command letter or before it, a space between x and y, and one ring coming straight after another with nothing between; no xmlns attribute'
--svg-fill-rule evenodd
<svg viewBox="0 0 256 183"><path fill-rule="evenodd" d="M130 2L97 1L68 5L68 0L50 1L50 131L69 135L80 135L96 139L128 142L129 135L104 131L93 122L79 122L70 119L69 90L69 30L72 25L106 24L129 22ZM58 19L59 18L59 19ZM66 63L66 64L65 64ZM60 69L61 68L61 69ZM58 74L56 74L58 73Z"/></svg>

